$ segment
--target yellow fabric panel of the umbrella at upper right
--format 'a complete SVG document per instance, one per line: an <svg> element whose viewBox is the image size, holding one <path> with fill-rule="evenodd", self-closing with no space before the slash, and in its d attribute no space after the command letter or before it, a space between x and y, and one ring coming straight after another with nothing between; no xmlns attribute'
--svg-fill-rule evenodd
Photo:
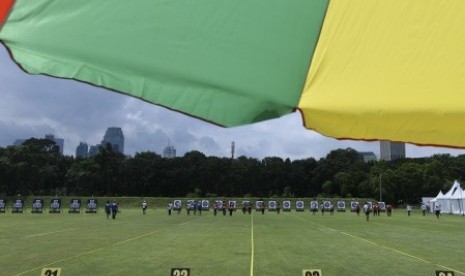
<svg viewBox="0 0 465 276"><path fill-rule="evenodd" d="M299 109L357 140L465 147L465 1L331 1Z"/></svg>

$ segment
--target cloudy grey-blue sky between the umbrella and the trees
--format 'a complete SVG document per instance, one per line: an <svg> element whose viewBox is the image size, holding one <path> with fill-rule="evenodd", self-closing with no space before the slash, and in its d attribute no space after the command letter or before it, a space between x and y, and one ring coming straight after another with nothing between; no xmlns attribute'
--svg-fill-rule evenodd
<svg viewBox="0 0 465 276"><path fill-rule="evenodd" d="M177 155L199 150L208 156L304 159L325 157L331 150L351 147L379 156L378 142L339 141L305 130L300 115L289 114L252 125L222 128L143 101L72 80L29 75L0 45L0 146L15 139L65 140L64 153L74 155L80 141L100 143L108 127L121 127L125 154L153 151L161 154L168 144ZM408 157L435 153L464 154L464 150L407 146Z"/></svg>

